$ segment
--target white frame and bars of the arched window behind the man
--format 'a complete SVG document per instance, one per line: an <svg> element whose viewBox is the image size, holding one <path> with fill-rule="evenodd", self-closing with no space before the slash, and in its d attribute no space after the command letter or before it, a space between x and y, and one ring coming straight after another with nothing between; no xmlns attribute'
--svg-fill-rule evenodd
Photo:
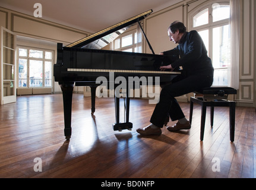
<svg viewBox="0 0 256 190"><path fill-rule="evenodd" d="M219 2L219 1L211 1L208 2L207 4L202 5L201 7L194 9L193 11L189 12L188 16L189 16L189 29L190 30L197 30L198 32L203 31L203 30L208 30L208 56L213 59L213 29L217 28L217 27L222 27L222 26L226 26L229 25L229 18L223 19L223 20L219 20L219 21L215 21L213 22L213 4L219 4L219 5L229 5L230 6L230 2L226 1L226 2ZM194 27L194 16L197 15L199 12L204 11L204 9L208 8L208 23L207 24L203 24L201 26L197 26ZM222 70L222 69L228 69L228 66L225 67L221 67L221 68L214 68L214 71L216 70ZM228 84L228 83L227 83ZM227 86L226 85L213 85L213 86Z"/></svg>

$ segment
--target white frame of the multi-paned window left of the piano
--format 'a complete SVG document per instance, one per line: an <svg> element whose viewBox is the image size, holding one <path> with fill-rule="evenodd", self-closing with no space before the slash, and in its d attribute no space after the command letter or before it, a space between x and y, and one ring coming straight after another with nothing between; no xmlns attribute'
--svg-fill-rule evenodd
<svg viewBox="0 0 256 190"><path fill-rule="evenodd" d="M26 56L20 56L19 55L19 49L26 49L27 50L27 55ZM29 50L39 50L39 51L43 51L43 58L33 58L29 56ZM52 53L52 58L51 59L46 59L45 58L45 53L46 52L51 52ZM17 75L18 75L18 84L17 84L17 88L53 88L53 64L54 64L54 50L51 49L42 49L39 47L28 47L28 46L17 46L17 65L19 69L19 61L20 59L26 59L27 60L27 78L20 78L19 76L19 70L17 71ZM30 61L42 61L42 86L40 87L30 87ZM45 66L46 66L46 62L52 62L50 69L51 69L51 74L50 74L50 78L45 78L46 76L46 71L45 71ZM23 86L19 86L20 85L20 80L27 80L27 84L26 87ZM46 86L46 80L50 80L50 85Z"/></svg>

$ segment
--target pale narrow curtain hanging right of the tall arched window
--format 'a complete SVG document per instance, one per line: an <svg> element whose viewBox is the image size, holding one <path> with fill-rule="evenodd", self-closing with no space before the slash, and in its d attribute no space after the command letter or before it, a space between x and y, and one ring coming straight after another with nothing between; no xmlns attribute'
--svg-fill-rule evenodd
<svg viewBox="0 0 256 190"><path fill-rule="evenodd" d="M229 87L239 88L240 0L230 0L231 58L228 66Z"/></svg>

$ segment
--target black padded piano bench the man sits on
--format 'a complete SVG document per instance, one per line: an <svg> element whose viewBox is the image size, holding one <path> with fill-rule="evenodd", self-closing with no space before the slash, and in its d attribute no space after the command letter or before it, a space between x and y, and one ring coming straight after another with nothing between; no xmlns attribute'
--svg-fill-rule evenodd
<svg viewBox="0 0 256 190"><path fill-rule="evenodd" d="M192 123L193 104L197 103L201 105L201 131L200 140L204 139L204 125L206 123L206 107L211 107L211 126L213 126L213 112L214 106L226 106L229 107L229 133L230 141L233 142L235 138L235 101L227 100L228 94L236 94L237 91L230 87L208 87L203 88L200 91L194 92L195 96L190 97L190 113L189 122Z"/></svg>

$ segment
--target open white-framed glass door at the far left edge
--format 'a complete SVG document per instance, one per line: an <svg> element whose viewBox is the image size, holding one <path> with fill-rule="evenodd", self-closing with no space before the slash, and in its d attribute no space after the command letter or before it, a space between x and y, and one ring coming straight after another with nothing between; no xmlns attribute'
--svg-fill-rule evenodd
<svg viewBox="0 0 256 190"><path fill-rule="evenodd" d="M1 105L16 102L15 34L1 27Z"/></svg>

